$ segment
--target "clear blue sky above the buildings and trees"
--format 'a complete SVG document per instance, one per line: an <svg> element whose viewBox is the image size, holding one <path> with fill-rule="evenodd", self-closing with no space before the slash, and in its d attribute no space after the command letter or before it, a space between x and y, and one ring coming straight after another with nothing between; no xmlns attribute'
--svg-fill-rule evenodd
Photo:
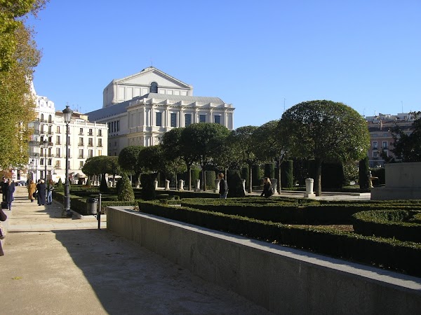
<svg viewBox="0 0 421 315"><path fill-rule="evenodd" d="M36 92L82 113L155 66L260 126L312 99L365 116L421 111L421 1L51 0L29 20Z"/></svg>

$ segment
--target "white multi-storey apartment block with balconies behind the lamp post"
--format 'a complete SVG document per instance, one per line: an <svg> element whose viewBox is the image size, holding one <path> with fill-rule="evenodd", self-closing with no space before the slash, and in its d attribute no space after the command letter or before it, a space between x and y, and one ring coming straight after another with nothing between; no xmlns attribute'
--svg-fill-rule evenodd
<svg viewBox="0 0 421 315"><path fill-rule="evenodd" d="M36 120L29 123L34 134L29 141L29 179L47 178L65 181L66 124L62 111L55 111L54 103L36 96ZM107 125L90 123L88 116L74 112L69 123L69 177L76 183L85 176L81 168L87 158L107 155ZM44 140L48 147L44 148Z"/></svg>

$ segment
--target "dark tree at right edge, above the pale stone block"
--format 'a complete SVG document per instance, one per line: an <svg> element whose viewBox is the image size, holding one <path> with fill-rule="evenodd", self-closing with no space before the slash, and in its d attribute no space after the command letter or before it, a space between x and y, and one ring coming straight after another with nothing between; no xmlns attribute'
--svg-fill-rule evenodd
<svg viewBox="0 0 421 315"><path fill-rule="evenodd" d="M411 115L415 117L411 126L413 132L406 134L401 127L394 127L391 130L394 148L390 151L402 162L421 162L421 111Z"/></svg>

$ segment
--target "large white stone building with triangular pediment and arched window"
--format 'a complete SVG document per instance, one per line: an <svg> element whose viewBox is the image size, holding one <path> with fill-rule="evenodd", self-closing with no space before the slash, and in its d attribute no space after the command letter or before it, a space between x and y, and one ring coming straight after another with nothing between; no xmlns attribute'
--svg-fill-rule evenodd
<svg viewBox="0 0 421 315"><path fill-rule="evenodd" d="M104 90L103 108L86 113L90 121L107 123L108 155L126 146L159 144L162 135L192 123L220 123L234 128L234 107L218 97L194 97L193 87L153 66Z"/></svg>

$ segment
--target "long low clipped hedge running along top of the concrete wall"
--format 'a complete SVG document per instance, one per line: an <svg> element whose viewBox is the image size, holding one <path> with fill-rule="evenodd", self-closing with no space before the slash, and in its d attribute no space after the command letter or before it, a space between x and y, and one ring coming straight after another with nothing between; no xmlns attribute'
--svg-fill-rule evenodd
<svg viewBox="0 0 421 315"><path fill-rule="evenodd" d="M231 232L421 276L419 267L421 244L414 242L368 237L328 228L285 225L189 207L169 207L157 202L139 202L139 209L147 214L213 230Z"/></svg>

